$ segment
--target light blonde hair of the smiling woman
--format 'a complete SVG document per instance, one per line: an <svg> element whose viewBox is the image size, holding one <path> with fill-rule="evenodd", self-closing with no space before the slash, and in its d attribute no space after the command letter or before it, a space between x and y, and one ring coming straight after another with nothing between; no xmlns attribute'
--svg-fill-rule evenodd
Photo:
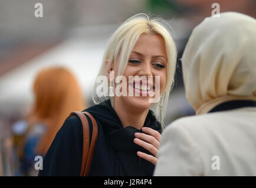
<svg viewBox="0 0 256 188"><path fill-rule="evenodd" d="M111 35L107 49L103 56L103 62L98 76L106 76L106 61L116 65L116 60L120 58L120 64L117 75L123 75L129 61L130 53L142 33L156 33L165 41L166 54L168 58L168 78L165 86L164 112L168 104L170 90L174 83L175 69L176 69L176 45L171 36L171 29L169 24L161 18L150 18L146 14L137 14L127 19L117 30ZM110 98L113 106L113 97L97 96L97 83L94 85L94 103L103 102ZM156 115L159 116L159 103L156 104Z"/></svg>

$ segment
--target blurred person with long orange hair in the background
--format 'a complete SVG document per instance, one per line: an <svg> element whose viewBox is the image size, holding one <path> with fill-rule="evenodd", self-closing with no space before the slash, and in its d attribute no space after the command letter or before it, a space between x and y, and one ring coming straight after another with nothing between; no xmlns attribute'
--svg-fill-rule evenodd
<svg viewBox="0 0 256 188"><path fill-rule="evenodd" d="M34 105L25 121L13 126L21 175L34 176L35 156L44 156L65 118L85 108L80 86L67 68L41 70L34 82Z"/></svg>

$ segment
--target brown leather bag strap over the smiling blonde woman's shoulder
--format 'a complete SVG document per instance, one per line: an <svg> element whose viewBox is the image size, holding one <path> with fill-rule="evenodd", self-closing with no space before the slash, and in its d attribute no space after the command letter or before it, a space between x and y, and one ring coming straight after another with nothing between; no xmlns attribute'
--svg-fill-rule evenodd
<svg viewBox="0 0 256 188"><path fill-rule="evenodd" d="M81 162L80 176L88 176L91 168L91 162L93 160L95 144L97 141L98 126L94 117L91 116L91 114L88 112L71 112L70 116L68 117L71 117L73 115L77 115L80 118L81 123L83 125L83 156L82 156L82 162ZM90 117L91 122L93 123L93 133L91 137L90 147L89 147L90 129L89 129L89 124L88 124L86 115Z"/></svg>

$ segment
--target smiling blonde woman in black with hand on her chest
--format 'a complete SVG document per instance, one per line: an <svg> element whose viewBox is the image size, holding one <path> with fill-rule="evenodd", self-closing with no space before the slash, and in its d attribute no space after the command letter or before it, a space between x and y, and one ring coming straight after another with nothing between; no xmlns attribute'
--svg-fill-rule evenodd
<svg viewBox="0 0 256 188"><path fill-rule="evenodd" d="M90 176L152 176L162 126L150 108L156 98L156 109L162 102L163 115L175 64L175 43L162 19L135 15L113 33L98 77L107 82L97 80L94 91L99 104L84 110L99 129ZM100 95L101 86L109 96ZM157 92L159 100L151 95ZM80 119L72 116L57 133L39 175L79 176L82 142Z"/></svg>

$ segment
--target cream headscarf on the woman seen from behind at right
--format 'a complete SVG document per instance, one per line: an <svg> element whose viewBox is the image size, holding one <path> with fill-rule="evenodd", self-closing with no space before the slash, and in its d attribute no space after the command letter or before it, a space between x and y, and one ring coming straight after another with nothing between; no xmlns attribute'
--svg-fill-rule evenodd
<svg viewBox="0 0 256 188"><path fill-rule="evenodd" d="M205 18L189 38L182 70L196 114L229 100L256 100L256 20L235 12Z"/></svg>

